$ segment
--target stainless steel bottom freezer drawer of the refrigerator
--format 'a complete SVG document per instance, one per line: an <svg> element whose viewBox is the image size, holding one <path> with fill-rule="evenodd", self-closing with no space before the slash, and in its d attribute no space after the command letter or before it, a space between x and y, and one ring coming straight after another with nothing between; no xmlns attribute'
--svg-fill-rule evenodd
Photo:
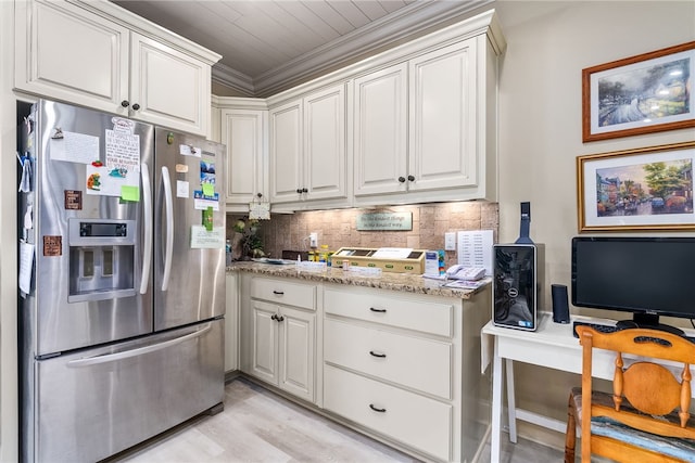
<svg viewBox="0 0 695 463"><path fill-rule="evenodd" d="M94 462L224 399L224 319L35 363L40 462ZM25 455L30 456L30 455Z"/></svg>

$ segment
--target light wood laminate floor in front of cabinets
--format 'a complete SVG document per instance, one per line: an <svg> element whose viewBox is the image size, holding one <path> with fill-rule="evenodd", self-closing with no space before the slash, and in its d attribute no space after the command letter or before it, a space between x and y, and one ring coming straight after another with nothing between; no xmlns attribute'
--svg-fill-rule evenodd
<svg viewBox="0 0 695 463"><path fill-rule="evenodd" d="M555 463L563 452L503 439L501 463ZM489 448L482 461L490 460ZM110 460L118 463L333 462L417 460L308 411L242 377L227 384L225 410L200 416Z"/></svg>

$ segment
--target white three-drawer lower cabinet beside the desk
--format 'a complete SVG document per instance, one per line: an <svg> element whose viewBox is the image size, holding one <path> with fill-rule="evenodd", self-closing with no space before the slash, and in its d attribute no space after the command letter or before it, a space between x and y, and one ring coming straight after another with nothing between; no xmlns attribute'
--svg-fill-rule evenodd
<svg viewBox="0 0 695 463"><path fill-rule="evenodd" d="M426 460L475 460L490 424L490 288L462 300L325 285L324 409Z"/></svg>

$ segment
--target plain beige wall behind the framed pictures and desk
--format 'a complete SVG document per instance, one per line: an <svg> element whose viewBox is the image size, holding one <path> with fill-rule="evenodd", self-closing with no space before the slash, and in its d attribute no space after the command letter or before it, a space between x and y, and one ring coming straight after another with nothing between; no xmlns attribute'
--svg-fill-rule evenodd
<svg viewBox="0 0 695 463"><path fill-rule="evenodd" d="M519 203L530 201L531 237L546 246L549 310L551 283L570 280L577 156L695 140L686 129L582 143L582 68L695 40L695 2L500 1L495 8L508 43L500 81L500 242L516 240ZM521 407L565 420L578 376L525 365L516 376ZM521 432L561 445L557 435Z"/></svg>

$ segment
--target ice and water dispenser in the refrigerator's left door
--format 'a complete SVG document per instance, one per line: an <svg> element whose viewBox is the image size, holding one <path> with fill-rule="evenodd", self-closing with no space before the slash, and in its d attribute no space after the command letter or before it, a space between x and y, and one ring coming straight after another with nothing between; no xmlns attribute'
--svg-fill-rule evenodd
<svg viewBox="0 0 695 463"><path fill-rule="evenodd" d="M134 296L135 220L70 219L67 300Z"/></svg>

